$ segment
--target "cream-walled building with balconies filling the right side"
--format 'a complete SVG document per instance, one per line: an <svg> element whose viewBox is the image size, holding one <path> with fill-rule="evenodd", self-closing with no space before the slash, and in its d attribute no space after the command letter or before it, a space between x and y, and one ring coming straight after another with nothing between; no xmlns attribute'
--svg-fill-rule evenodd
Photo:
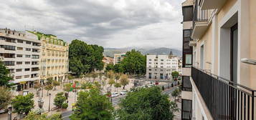
<svg viewBox="0 0 256 120"><path fill-rule="evenodd" d="M256 1L186 0L181 119L256 119Z"/></svg>

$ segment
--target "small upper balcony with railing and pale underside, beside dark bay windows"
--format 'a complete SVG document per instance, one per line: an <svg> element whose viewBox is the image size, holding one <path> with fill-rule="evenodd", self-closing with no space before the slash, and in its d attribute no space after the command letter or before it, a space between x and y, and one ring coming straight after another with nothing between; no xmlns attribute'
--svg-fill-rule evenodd
<svg viewBox="0 0 256 120"><path fill-rule="evenodd" d="M211 15L210 10L201 9L198 1L196 0L193 14L193 32L191 34L192 39L200 39L204 35L208 28L209 15Z"/></svg>

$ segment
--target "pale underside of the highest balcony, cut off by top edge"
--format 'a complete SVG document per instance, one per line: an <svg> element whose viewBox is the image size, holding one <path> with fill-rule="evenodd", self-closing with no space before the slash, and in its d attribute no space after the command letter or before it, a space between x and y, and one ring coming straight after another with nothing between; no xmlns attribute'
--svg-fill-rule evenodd
<svg viewBox="0 0 256 120"><path fill-rule="evenodd" d="M220 9L227 0L200 0L199 5L202 9Z"/></svg>

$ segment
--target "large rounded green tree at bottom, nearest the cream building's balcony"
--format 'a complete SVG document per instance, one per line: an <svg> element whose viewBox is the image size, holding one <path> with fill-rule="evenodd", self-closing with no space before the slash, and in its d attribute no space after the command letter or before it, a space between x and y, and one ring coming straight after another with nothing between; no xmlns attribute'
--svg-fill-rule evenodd
<svg viewBox="0 0 256 120"><path fill-rule="evenodd" d="M171 120L174 117L169 96L158 86L129 92L120 101L115 118L120 120Z"/></svg>

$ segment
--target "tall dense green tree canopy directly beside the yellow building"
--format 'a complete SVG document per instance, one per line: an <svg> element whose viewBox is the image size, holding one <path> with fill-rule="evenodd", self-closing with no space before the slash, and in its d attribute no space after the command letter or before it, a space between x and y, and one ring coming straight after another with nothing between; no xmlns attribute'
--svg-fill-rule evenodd
<svg viewBox="0 0 256 120"><path fill-rule="evenodd" d="M88 45L84 41L73 40L69 47L70 71L75 75L90 73L94 70L102 70L103 47Z"/></svg>

